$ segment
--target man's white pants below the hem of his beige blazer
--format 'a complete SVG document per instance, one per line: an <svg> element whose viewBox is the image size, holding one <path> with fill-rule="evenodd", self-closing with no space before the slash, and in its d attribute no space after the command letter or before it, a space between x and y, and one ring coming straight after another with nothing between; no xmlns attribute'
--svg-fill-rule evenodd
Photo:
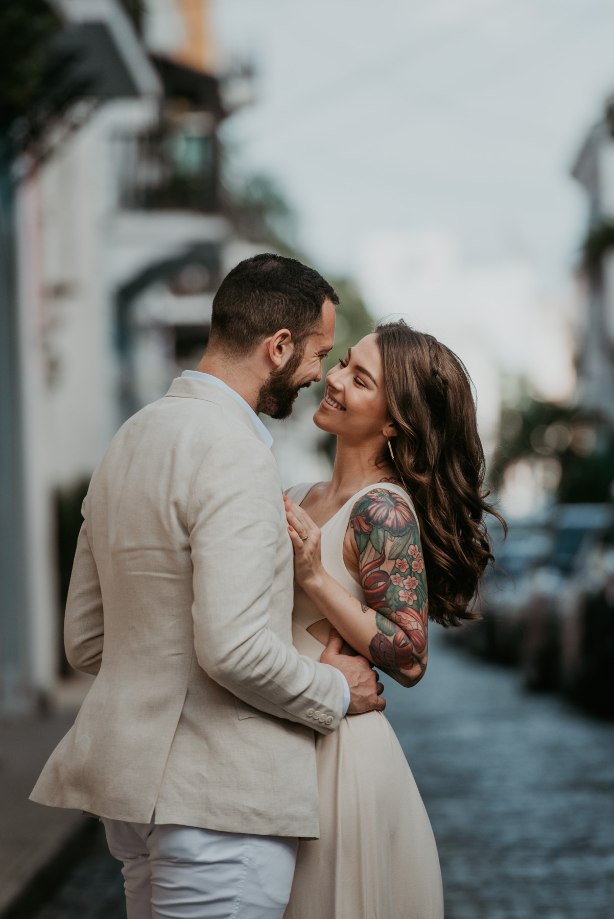
<svg viewBox="0 0 614 919"><path fill-rule="evenodd" d="M282 919L298 839L103 820L128 919Z"/></svg>

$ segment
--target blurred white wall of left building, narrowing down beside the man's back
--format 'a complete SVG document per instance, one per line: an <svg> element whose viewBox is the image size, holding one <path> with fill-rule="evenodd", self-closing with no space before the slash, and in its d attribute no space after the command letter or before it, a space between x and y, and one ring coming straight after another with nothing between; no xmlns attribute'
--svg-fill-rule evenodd
<svg viewBox="0 0 614 919"><path fill-rule="evenodd" d="M17 195L30 683L42 697L59 651L54 492L91 474L118 417L105 270L111 139L153 114L147 101L108 103Z"/></svg>

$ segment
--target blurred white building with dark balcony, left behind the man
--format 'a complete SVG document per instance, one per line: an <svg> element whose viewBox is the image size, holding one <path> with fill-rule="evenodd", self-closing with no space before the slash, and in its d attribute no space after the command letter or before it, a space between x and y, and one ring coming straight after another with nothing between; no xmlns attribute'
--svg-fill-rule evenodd
<svg viewBox="0 0 614 919"><path fill-rule="evenodd" d="M147 4L141 30L119 0L56 6L106 89L17 190L26 591L6 711L51 698L65 668L63 494L83 491L119 425L196 366L220 278L258 251L222 195L217 129L249 92L239 73L222 101L206 0Z"/></svg>

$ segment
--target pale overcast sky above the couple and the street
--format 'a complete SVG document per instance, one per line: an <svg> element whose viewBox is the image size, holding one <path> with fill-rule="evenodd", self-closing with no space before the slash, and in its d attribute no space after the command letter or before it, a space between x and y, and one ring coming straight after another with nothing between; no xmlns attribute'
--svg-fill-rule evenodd
<svg viewBox="0 0 614 919"><path fill-rule="evenodd" d="M564 284L585 214L569 168L614 91L614 0L214 0L214 23L258 74L224 139L278 181L324 270L355 273L373 231L434 228Z"/></svg>

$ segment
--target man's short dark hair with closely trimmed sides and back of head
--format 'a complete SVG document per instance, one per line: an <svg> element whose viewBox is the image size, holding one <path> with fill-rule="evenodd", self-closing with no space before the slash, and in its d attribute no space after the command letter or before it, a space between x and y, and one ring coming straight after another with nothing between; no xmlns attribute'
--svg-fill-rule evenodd
<svg viewBox="0 0 614 919"><path fill-rule="evenodd" d="M289 329L300 347L319 322L325 300L339 302L313 268L283 255L254 255L222 280L213 298L210 341L246 354L279 329Z"/></svg>

